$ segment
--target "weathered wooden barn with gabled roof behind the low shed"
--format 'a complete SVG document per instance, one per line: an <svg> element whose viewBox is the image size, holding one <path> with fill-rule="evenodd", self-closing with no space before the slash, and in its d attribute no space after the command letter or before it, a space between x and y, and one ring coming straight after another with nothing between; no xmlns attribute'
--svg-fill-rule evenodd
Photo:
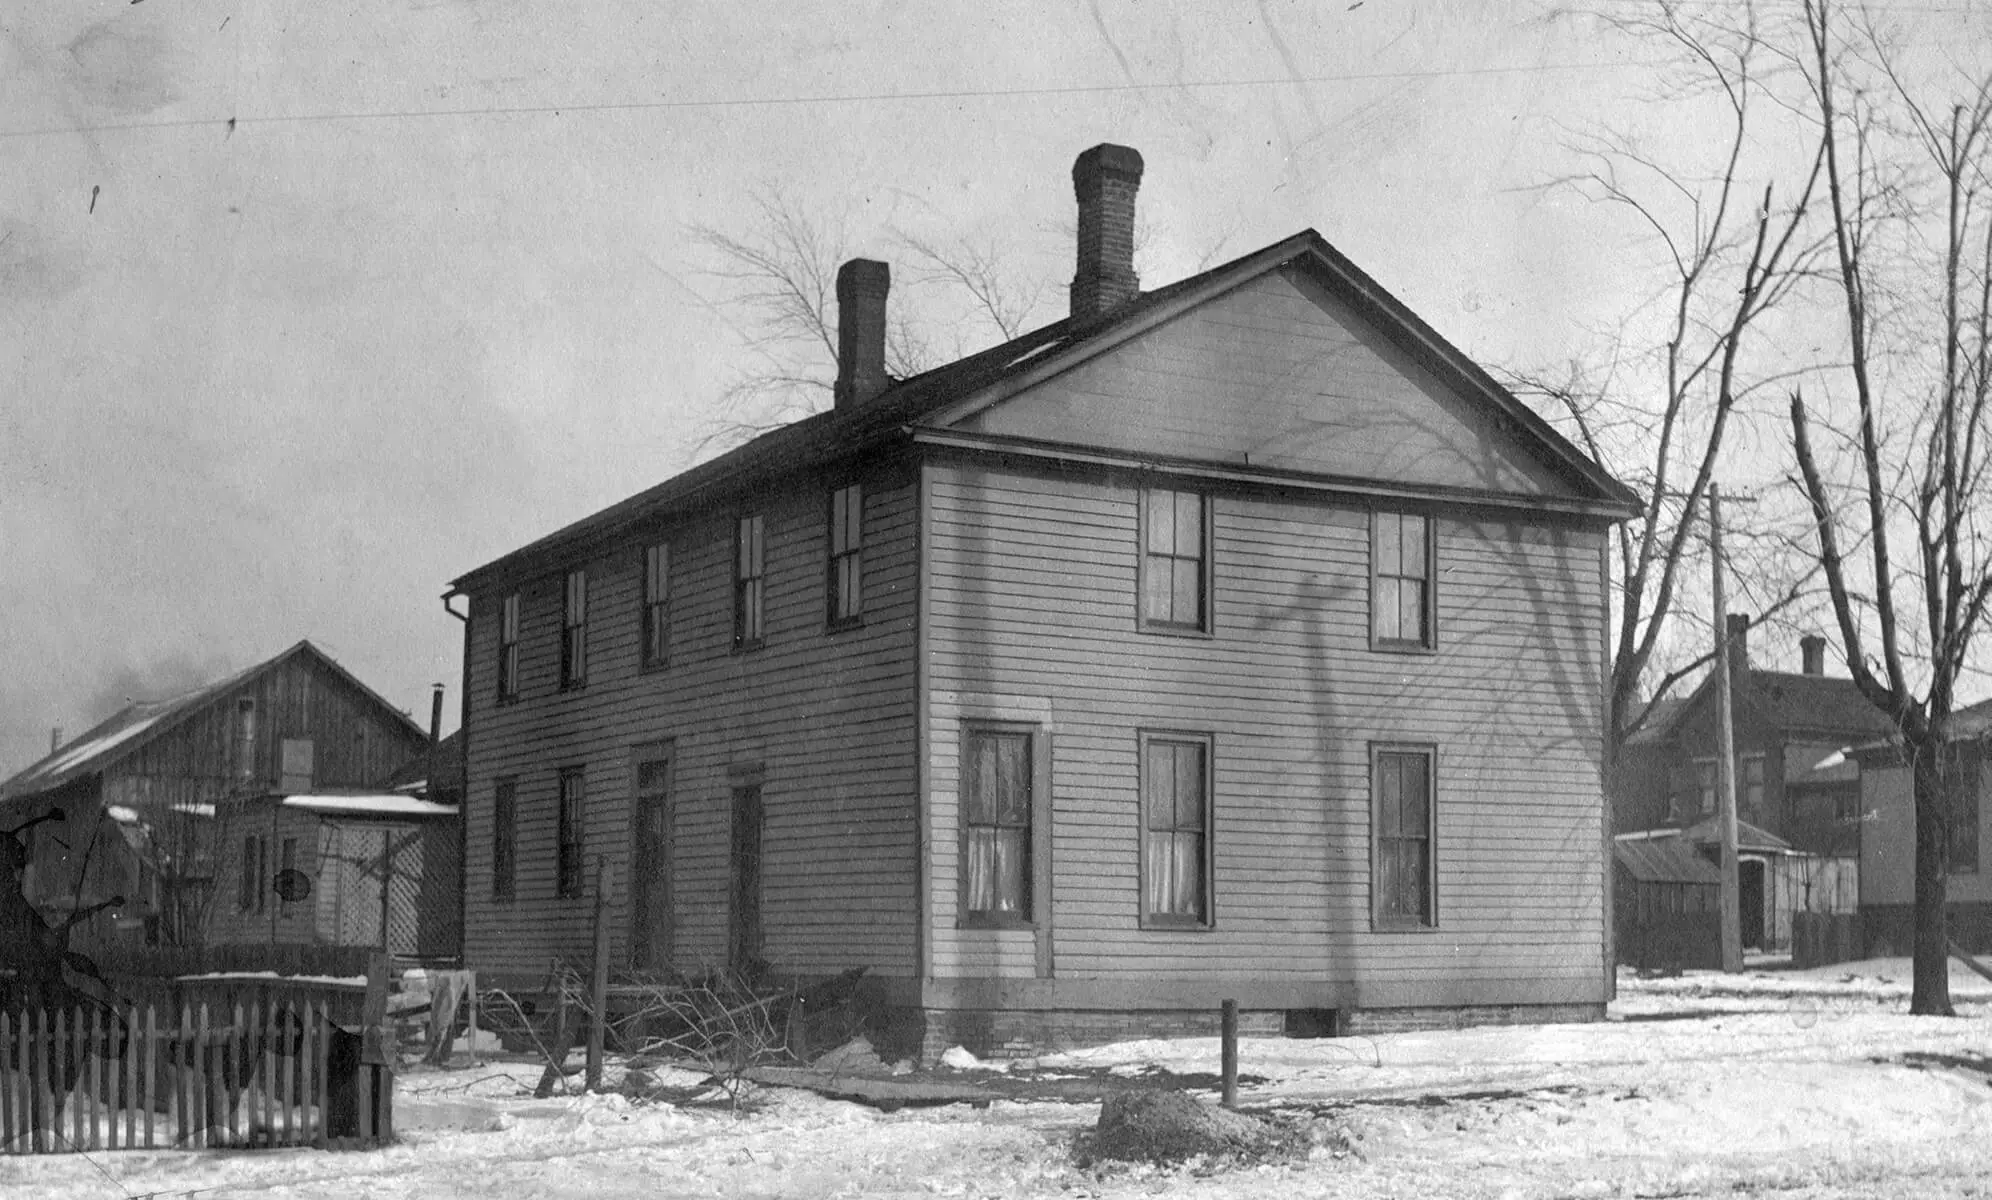
<svg viewBox="0 0 1992 1200"><path fill-rule="evenodd" d="M422 730L311 642L169 700L125 704L0 783L34 831L30 903L74 911L124 895L78 941L193 943L215 875L217 805L275 789L365 787L424 750Z"/></svg>

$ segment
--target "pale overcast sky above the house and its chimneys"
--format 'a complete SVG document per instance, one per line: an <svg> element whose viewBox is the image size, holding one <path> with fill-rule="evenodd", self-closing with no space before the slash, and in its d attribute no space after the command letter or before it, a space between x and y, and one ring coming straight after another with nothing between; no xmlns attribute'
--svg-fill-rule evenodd
<svg viewBox="0 0 1992 1200"><path fill-rule="evenodd" d="M1147 287L1315 227L1482 361L1566 359L1651 287L1540 191L1570 134L1709 144L1653 58L1438 0L10 6L0 775L299 638L454 722L446 582L695 460L749 329L689 229L757 189L1062 295L1121 142Z"/></svg>

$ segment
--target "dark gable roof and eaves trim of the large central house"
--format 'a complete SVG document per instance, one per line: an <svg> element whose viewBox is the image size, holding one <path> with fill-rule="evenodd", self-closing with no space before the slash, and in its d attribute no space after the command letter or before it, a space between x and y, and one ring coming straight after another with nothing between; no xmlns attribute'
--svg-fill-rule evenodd
<svg viewBox="0 0 1992 1200"><path fill-rule="evenodd" d="M745 492L793 470L831 464L892 441L1028 450L1032 447L988 435L964 435L950 427L1018 391L1104 355L1197 305L1289 265L1315 275L1337 299L1372 321L1384 337L1410 353L1440 381L1464 397L1488 405L1506 431L1546 464L1572 480L1578 498L1560 504L1562 508L1608 518L1621 518L1637 510L1637 496L1625 484L1618 482L1604 466L1594 462L1548 421L1494 381L1480 365L1442 339L1402 301L1343 257L1321 233L1303 229L1293 237L1211 267L1201 275L1141 293L1104 319L1080 323L1066 317L1054 321L956 363L896 381L871 401L817 413L765 433L727 454L701 462L627 500L610 504L510 554L464 572L450 582L448 594L466 592L474 584L504 576L514 568L548 556L586 556L600 542L643 520ZM1058 449L1052 447L1050 450L1056 452ZM1181 462L1181 466L1195 466L1195 462ZM1293 472L1279 470L1227 468L1225 474L1247 480L1293 478ZM1323 482L1341 486L1365 484L1365 480ZM1496 496L1488 494L1480 498L1494 500Z"/></svg>

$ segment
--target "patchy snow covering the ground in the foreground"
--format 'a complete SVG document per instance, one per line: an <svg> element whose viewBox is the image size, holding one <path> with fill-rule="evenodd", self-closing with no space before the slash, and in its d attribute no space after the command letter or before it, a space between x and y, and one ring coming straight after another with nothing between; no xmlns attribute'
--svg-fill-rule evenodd
<svg viewBox="0 0 1992 1200"><path fill-rule="evenodd" d="M534 1100L538 1068L410 1070L374 1152L0 1158L0 1196L1992 1196L1992 983L1906 1017L1900 959L1819 971L1621 975L1612 1019L1245 1039L1251 1108L1309 1114L1309 1162L1082 1172L1096 1104L892 1114L767 1090L747 1114L618 1094ZM1217 1041L1121 1043L1008 1078L1215 1072ZM974 1078L976 1072L964 1072Z"/></svg>

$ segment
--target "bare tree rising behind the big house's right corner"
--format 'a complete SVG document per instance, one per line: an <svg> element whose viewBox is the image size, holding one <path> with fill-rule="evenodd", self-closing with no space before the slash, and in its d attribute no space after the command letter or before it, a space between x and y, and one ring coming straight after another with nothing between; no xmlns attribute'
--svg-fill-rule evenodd
<svg viewBox="0 0 1992 1200"><path fill-rule="evenodd" d="M1787 379L1763 365L1769 355L1759 351L1769 347L1753 337L1821 251L1807 225L1819 157L1783 201L1773 183L1755 181L1777 167L1749 157L1763 142L1763 110L1779 114L1767 88L1779 58L1751 8L1737 16L1741 24L1717 16L1661 0L1651 14L1608 18L1679 58L1669 92L1705 98L1725 114L1713 167L1683 169L1647 153L1633 136L1602 132L1582 138L1588 169L1556 181L1629 213L1661 249L1667 283L1653 297L1661 317L1647 331L1627 323L1610 333L1604 363L1508 377L1516 391L1546 397L1584 449L1645 496L1639 514L1616 528L1608 765L1645 726L1653 702L1709 662L1707 654L1685 656L1651 678L1681 610L1681 570L1701 544L1697 522L1739 405ZM1803 580L1777 574L1785 576L1781 594L1761 598L1769 610L1789 606Z"/></svg>

